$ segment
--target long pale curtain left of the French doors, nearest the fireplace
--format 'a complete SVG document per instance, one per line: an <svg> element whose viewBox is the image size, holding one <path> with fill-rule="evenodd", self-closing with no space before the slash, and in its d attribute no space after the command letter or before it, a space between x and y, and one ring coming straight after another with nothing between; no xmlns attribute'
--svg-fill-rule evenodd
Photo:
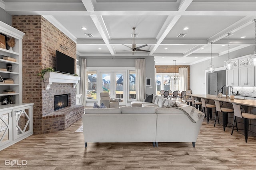
<svg viewBox="0 0 256 170"><path fill-rule="evenodd" d="M80 93L82 94L82 105L86 105L86 84L87 84L87 76L86 76L86 59L81 59L81 80L80 80Z"/></svg>

